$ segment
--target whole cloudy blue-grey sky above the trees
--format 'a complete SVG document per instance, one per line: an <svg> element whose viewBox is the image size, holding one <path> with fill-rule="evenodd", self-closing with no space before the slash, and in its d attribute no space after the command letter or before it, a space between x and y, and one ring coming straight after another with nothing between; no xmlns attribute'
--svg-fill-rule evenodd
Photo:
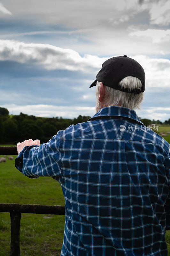
<svg viewBox="0 0 170 256"><path fill-rule="evenodd" d="M96 80L114 56L146 75L141 118L170 118L170 0L0 0L0 106L10 114L95 114Z"/></svg>

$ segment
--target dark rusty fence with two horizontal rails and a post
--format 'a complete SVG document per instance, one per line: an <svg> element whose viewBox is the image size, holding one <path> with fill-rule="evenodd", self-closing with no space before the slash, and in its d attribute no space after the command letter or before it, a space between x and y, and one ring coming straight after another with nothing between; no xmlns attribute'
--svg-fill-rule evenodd
<svg viewBox="0 0 170 256"><path fill-rule="evenodd" d="M0 146L0 155L18 155L17 147L2 147L2 146ZM19 234L20 234L21 213L65 215L65 206L63 206L63 205L0 203L0 212L10 212L10 217L11 217L10 256L20 256Z"/></svg>

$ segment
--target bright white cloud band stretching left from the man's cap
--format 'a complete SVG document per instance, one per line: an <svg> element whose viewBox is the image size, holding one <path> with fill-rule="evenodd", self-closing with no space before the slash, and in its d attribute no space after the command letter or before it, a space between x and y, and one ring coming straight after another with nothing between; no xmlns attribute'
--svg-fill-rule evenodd
<svg viewBox="0 0 170 256"><path fill-rule="evenodd" d="M0 40L0 60L43 65L44 68L90 71L99 69L107 58L99 58L63 49L50 44L26 44L15 40Z"/></svg>

